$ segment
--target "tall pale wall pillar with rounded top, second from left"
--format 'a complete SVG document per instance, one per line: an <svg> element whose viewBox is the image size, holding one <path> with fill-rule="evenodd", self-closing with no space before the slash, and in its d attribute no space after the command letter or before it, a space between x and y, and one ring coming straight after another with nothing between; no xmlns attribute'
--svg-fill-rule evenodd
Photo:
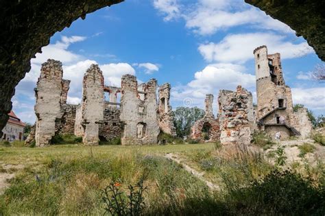
<svg viewBox="0 0 325 216"><path fill-rule="evenodd" d="M104 77L98 65L92 64L86 71L82 88L83 142L99 144L99 124L104 121Z"/></svg>

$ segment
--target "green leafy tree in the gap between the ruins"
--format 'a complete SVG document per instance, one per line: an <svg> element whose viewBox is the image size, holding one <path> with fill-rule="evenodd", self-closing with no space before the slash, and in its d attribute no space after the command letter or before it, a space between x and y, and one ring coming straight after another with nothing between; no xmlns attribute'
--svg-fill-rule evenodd
<svg viewBox="0 0 325 216"><path fill-rule="evenodd" d="M204 110L198 107L177 107L173 111L176 134L178 137L190 135L193 124L203 118Z"/></svg>

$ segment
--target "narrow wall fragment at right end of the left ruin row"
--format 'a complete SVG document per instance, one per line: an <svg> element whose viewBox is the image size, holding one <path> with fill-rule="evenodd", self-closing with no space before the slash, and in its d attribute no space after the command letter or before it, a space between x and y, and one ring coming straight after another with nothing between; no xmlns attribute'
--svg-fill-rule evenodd
<svg viewBox="0 0 325 216"><path fill-rule="evenodd" d="M164 133L176 136L176 129L173 125L173 113L169 104L171 85L165 83L159 87L158 113L159 127Z"/></svg>

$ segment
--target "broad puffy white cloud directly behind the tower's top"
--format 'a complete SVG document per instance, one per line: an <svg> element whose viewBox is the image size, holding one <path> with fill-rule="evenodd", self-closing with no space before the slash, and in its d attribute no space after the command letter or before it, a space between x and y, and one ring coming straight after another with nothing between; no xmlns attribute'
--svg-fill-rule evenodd
<svg viewBox="0 0 325 216"><path fill-rule="evenodd" d="M239 33L226 36L221 42L201 44L198 48L208 62L246 62L254 58L252 51L267 45L269 53L281 53L282 59L301 57L313 53L306 43L293 44L276 33Z"/></svg>

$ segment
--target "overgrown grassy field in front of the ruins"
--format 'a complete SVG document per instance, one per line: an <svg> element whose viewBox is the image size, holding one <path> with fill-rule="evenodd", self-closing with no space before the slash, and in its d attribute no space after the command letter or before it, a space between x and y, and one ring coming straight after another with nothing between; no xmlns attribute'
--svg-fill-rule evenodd
<svg viewBox="0 0 325 216"><path fill-rule="evenodd" d="M165 153L177 154L219 189L209 189ZM15 174L0 195L0 215L103 215L108 185L117 185L122 195L115 200L123 206L139 180L147 187L141 211L117 215L325 213L324 166L302 176L272 165L261 152L215 144L1 147L0 165L0 172Z"/></svg>

